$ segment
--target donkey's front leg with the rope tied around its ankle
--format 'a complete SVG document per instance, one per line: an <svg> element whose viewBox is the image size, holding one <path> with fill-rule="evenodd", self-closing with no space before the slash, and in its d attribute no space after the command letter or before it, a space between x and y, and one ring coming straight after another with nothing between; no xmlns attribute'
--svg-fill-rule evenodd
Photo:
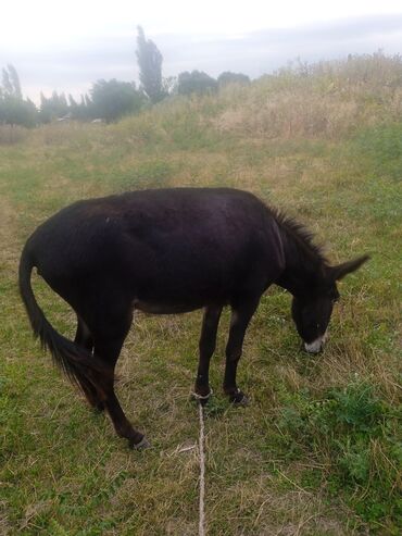
<svg viewBox="0 0 402 536"><path fill-rule="evenodd" d="M210 361L215 351L216 346L216 333L222 313L222 307L209 306L205 309L204 317L202 321L202 329L200 337L200 360L198 364L198 372L194 385L194 392L201 400L206 401L211 395L210 389Z"/></svg>

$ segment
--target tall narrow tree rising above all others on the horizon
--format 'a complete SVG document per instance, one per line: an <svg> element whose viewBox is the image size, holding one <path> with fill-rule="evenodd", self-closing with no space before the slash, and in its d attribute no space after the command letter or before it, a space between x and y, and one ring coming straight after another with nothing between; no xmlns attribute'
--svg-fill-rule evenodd
<svg viewBox="0 0 402 536"><path fill-rule="evenodd" d="M166 96L162 86L163 57L156 45L151 39L146 39L141 26L138 26L137 29L137 60L141 83L140 89L154 104Z"/></svg>

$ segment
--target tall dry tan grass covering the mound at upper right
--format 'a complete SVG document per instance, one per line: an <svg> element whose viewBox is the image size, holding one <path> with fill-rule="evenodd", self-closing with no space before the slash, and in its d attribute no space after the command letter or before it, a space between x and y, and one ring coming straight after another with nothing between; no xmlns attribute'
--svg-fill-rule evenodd
<svg viewBox="0 0 402 536"><path fill-rule="evenodd" d="M402 115L402 58L381 53L348 61L290 65L218 100L221 130L267 138L339 139Z"/></svg>

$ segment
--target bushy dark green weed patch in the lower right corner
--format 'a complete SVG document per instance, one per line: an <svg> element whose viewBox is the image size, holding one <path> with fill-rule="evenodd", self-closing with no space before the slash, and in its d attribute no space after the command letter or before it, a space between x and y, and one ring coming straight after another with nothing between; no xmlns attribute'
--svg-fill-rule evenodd
<svg viewBox="0 0 402 536"><path fill-rule="evenodd" d="M402 515L393 493L402 461L395 440L401 416L375 394L373 384L354 381L318 399L302 390L281 410L278 426L289 458L312 456L324 468L314 478L326 478L331 493L341 490L365 520L381 526L384 518ZM302 482L309 486L310 481L307 471ZM388 529L397 534L397 524Z"/></svg>

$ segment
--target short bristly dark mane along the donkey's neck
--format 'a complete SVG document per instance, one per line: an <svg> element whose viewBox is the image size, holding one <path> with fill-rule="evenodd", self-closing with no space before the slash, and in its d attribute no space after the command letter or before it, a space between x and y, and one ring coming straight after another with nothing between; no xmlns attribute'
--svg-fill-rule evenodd
<svg viewBox="0 0 402 536"><path fill-rule="evenodd" d="M323 246L314 242L314 234L294 217L290 217L280 210L272 209L276 222L286 234L293 239L299 251L304 252L309 258L314 259L318 264L329 265L328 259L324 254Z"/></svg>

